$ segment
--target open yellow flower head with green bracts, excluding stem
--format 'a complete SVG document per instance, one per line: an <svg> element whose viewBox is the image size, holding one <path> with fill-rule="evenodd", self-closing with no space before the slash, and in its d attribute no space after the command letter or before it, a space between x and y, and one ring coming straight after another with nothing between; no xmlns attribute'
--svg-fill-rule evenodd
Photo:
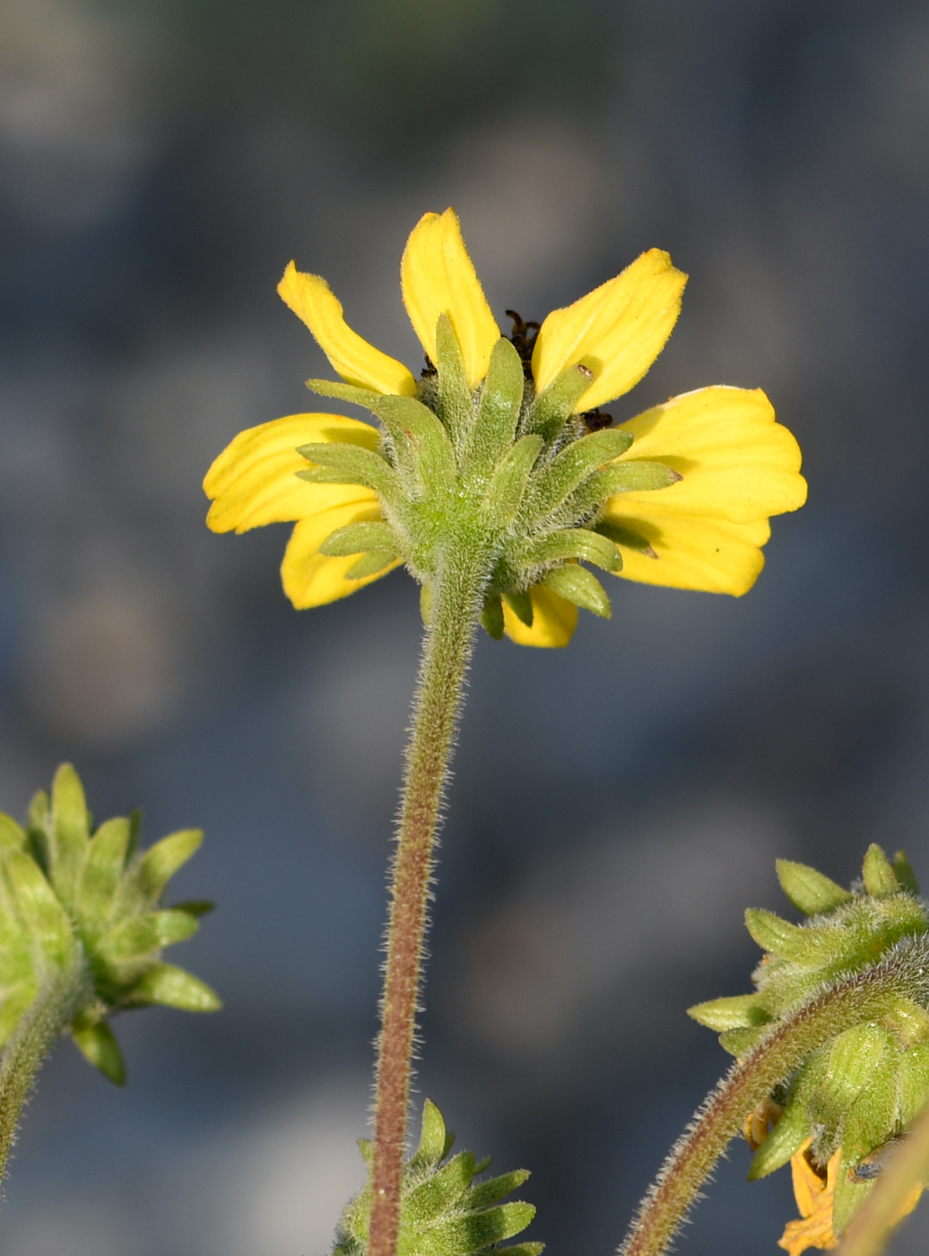
<svg viewBox="0 0 929 1256"><path fill-rule="evenodd" d="M315 392L379 426L291 414L241 432L205 480L215 531L295 524L281 575L295 607L354 593L399 564L424 613L449 538L485 566L482 622L564 646L584 607L609 615L583 564L648 584L746 593L771 515L806 499L800 450L763 392L712 387L626 423L599 409L645 374L677 322L685 276L652 249L512 338L487 304L453 210L424 215L400 266L427 355L416 378L344 320L329 285L291 263L279 285L341 383Z"/></svg>

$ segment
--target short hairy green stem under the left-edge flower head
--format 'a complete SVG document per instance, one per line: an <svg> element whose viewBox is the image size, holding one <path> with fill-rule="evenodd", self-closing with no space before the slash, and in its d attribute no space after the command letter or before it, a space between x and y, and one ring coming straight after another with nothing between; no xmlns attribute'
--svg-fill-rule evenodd
<svg viewBox="0 0 929 1256"><path fill-rule="evenodd" d="M41 987L24 1012L0 1063L0 1182L16 1138L23 1108L46 1055L88 995L83 952Z"/></svg>

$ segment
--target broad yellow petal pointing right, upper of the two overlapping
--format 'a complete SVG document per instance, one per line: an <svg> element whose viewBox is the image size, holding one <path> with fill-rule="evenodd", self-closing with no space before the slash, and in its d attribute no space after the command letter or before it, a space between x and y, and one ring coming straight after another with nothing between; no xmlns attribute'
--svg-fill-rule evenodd
<svg viewBox="0 0 929 1256"><path fill-rule="evenodd" d="M800 446L761 388L699 388L623 425L635 442L620 461L665 462L683 480L660 490L663 509L733 522L797 510L806 501ZM630 492L643 505L655 494Z"/></svg>

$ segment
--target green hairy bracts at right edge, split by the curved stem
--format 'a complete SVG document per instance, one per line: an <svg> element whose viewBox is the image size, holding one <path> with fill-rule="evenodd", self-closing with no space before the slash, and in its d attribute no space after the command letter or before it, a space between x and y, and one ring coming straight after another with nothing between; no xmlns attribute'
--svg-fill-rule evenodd
<svg viewBox="0 0 929 1256"><path fill-rule="evenodd" d="M891 863L871 845L851 892L805 864L778 860L777 872L808 918L791 924L772 912L746 912L748 931L766 952L753 973L756 992L689 1009L694 1020L722 1031L719 1041L737 1056L851 976L874 972L880 982L890 963L915 966L914 976L923 977L929 963L929 914L903 852ZM924 987L923 977L911 988ZM929 1102L926 1005L925 993L898 996L880 1020L837 1034L776 1086L772 1099L783 1114L756 1152L749 1177L780 1168L807 1139L822 1166L841 1148L835 1191L835 1232L841 1233L874 1186L862 1161Z"/></svg>

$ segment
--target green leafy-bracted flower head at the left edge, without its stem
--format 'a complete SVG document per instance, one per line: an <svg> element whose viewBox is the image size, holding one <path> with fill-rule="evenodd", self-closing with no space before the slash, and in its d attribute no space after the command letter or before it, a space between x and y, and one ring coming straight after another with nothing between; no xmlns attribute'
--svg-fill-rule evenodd
<svg viewBox="0 0 929 1256"><path fill-rule="evenodd" d="M197 931L210 903L166 908L164 887L200 847L185 829L137 850L138 814L107 820L92 833L80 779L58 769L51 798L35 795L23 829L0 814L0 1046L36 993L83 952L88 997L69 1025L85 1058L110 1081L126 1080L108 1016L166 1004L216 1011L213 991L161 952Z"/></svg>

